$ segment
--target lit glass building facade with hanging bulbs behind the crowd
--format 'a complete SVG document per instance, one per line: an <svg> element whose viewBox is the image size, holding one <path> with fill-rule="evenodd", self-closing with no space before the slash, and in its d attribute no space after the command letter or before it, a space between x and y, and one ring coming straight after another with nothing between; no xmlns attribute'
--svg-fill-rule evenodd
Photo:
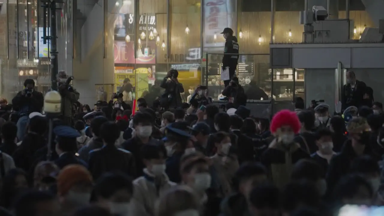
<svg viewBox="0 0 384 216"><path fill-rule="evenodd" d="M50 45L41 35L50 29L41 2L1 1L0 94L11 99L26 78L46 91ZM377 27L361 0L331 2L331 18L353 21L350 39ZM271 43L303 42L299 12L305 7L305 0L66 0L57 12L59 70L74 76L82 103L109 99L126 78L139 98L170 69L179 71L185 100L196 85L208 85L217 100L223 89L220 32L230 27L242 54L242 85L258 85L276 101L306 98L306 68L270 66Z"/></svg>

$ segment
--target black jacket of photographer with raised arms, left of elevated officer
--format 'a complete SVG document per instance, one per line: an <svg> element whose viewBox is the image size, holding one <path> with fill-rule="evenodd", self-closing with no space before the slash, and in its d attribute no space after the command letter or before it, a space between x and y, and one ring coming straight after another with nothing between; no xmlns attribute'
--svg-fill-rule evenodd
<svg viewBox="0 0 384 216"><path fill-rule="evenodd" d="M181 83L176 83L173 80L168 80L168 77L164 77L160 87L165 88L166 90L164 95L162 95L162 98L168 97L168 95L170 95L171 99L168 103L169 108L177 108L181 106L182 100L180 93L184 92L184 88Z"/></svg>

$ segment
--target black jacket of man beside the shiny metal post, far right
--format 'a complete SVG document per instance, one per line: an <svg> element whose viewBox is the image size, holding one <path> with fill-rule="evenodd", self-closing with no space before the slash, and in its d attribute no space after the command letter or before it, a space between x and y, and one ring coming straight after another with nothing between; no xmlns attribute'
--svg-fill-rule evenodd
<svg viewBox="0 0 384 216"><path fill-rule="evenodd" d="M341 93L342 110L349 106L356 106L359 108L363 105L363 96L366 93L367 85L363 81L356 80L354 89L352 90L351 84L343 86Z"/></svg>

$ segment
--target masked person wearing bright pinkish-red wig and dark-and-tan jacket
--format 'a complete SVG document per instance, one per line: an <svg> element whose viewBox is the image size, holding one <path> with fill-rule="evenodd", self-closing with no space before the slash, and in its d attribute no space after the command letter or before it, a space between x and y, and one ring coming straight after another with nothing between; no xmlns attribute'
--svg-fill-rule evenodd
<svg viewBox="0 0 384 216"><path fill-rule="evenodd" d="M295 142L301 124L295 112L281 110L273 116L271 133L276 137L264 151L261 162L268 167L273 183L282 187L291 178L292 166L310 155Z"/></svg>

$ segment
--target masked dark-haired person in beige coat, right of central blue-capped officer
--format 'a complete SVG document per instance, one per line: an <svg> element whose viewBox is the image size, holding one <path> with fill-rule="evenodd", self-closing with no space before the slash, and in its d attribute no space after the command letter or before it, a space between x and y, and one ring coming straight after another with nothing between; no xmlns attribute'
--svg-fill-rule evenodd
<svg viewBox="0 0 384 216"><path fill-rule="evenodd" d="M210 157L210 159L218 174L218 180L221 185L220 197L225 197L232 193L232 179L239 168L239 162L237 155L230 152L231 138L227 133L217 132L213 135L213 140L217 153Z"/></svg>

